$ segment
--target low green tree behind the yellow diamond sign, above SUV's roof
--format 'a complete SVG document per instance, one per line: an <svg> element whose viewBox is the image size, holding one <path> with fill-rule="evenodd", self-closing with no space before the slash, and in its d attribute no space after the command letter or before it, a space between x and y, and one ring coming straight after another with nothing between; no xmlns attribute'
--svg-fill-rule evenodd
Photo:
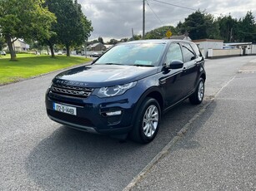
<svg viewBox="0 0 256 191"><path fill-rule="evenodd" d="M173 35L177 35L177 30L175 29L175 27L173 26L163 26L163 27L158 27L156 29L153 29L150 32L147 32L145 35L146 39L162 39L164 37L166 37L166 32L168 32L168 30L170 30Z"/></svg>

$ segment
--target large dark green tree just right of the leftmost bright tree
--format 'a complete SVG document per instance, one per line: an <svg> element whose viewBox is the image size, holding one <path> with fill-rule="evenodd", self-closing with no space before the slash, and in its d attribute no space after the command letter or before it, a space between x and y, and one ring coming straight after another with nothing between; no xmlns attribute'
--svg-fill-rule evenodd
<svg viewBox="0 0 256 191"><path fill-rule="evenodd" d="M45 5L55 13L58 21L52 27L56 36L46 41L51 50L55 43L63 44L70 56L70 47L79 47L88 40L93 32L92 23L83 15L77 0L46 0Z"/></svg>

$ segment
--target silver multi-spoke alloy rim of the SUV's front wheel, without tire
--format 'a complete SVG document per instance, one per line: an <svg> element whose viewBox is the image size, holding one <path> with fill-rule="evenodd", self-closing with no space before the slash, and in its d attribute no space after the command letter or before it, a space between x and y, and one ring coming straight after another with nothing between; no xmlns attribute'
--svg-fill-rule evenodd
<svg viewBox="0 0 256 191"><path fill-rule="evenodd" d="M143 132L148 138L153 137L158 128L158 107L156 105L149 105L143 116Z"/></svg>

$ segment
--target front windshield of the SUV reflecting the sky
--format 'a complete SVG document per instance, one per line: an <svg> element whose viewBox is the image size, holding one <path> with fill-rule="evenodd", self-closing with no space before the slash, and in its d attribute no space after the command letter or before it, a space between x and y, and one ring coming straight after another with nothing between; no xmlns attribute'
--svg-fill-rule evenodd
<svg viewBox="0 0 256 191"><path fill-rule="evenodd" d="M120 44L107 51L95 64L157 66L165 44L138 43Z"/></svg>

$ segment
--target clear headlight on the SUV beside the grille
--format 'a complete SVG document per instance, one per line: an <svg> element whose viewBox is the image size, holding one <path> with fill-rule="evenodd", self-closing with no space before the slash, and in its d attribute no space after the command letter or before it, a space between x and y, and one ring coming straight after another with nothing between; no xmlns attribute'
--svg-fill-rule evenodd
<svg viewBox="0 0 256 191"><path fill-rule="evenodd" d="M132 87L136 85L136 81L120 85L120 86L112 86L112 87L102 87L96 90L96 96L98 97L112 97L112 96L120 96L124 94L125 91L128 91Z"/></svg>

